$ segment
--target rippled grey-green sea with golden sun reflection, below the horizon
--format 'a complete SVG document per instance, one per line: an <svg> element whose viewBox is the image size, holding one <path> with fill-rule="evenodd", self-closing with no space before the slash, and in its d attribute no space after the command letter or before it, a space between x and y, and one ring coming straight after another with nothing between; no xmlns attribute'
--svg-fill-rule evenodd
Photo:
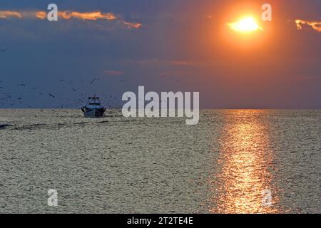
<svg viewBox="0 0 321 228"><path fill-rule="evenodd" d="M321 110L0 109L1 213L321 213L320 176Z"/></svg>

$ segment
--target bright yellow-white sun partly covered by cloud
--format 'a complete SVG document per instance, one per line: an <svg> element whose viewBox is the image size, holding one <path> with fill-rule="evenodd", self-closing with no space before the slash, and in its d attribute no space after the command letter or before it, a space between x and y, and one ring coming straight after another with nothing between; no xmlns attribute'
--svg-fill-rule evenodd
<svg viewBox="0 0 321 228"><path fill-rule="evenodd" d="M247 16L240 21L228 23L228 26L237 32L250 33L254 31L263 31L252 16Z"/></svg>

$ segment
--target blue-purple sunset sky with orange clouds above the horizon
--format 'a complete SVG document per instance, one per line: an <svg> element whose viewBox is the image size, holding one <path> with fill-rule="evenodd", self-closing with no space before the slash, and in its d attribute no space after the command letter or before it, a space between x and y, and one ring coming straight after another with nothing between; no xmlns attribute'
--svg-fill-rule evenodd
<svg viewBox="0 0 321 228"><path fill-rule="evenodd" d="M244 16L262 29L228 26ZM200 108L320 109L320 28L320 0L1 0L0 108L79 108L93 93L117 107L145 86L200 92Z"/></svg>

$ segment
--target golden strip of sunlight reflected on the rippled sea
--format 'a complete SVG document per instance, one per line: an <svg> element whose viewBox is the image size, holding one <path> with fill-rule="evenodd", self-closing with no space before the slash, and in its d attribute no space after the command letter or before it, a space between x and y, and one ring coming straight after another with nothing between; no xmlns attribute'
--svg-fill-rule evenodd
<svg viewBox="0 0 321 228"><path fill-rule="evenodd" d="M258 113L253 113L258 112ZM226 113L220 141L218 173L212 182L213 213L273 213L272 164L268 127L263 123L264 110L235 110ZM256 115L258 114L258 115ZM254 117L254 118L253 118ZM259 118L260 117L260 118ZM263 190L272 191L272 206L263 205Z"/></svg>

